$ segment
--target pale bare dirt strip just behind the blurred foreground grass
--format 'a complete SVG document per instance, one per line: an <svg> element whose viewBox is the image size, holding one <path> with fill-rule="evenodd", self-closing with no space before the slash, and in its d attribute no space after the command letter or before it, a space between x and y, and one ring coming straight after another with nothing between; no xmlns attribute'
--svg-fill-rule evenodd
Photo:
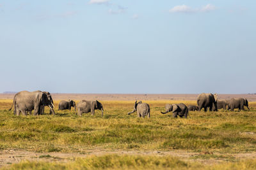
<svg viewBox="0 0 256 170"><path fill-rule="evenodd" d="M50 153L36 153L29 152L26 150L1 150L0 151L0 167L8 166L8 164L18 163L22 160L29 161L45 161L45 162L68 162L72 160L76 160L76 158L84 158L89 155L106 155L106 154L117 154L117 155L170 155L172 157L178 157L182 160L192 161L192 162L200 162L202 164L219 164L222 162L230 161L230 157L235 160L241 159L254 159L256 158L256 152L252 153L237 153L237 154L221 154L221 153L209 153L209 152L186 152L186 151L151 151L151 152L143 152L143 151L108 151L108 150L86 150L83 153L60 153L60 152L50 152ZM214 155L217 158L215 159L202 159L200 155ZM227 158L228 157L228 158Z"/></svg>

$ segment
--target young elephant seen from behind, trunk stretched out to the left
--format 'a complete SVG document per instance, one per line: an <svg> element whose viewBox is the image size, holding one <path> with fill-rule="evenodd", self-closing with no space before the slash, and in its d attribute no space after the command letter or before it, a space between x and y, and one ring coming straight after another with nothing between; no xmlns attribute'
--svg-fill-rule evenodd
<svg viewBox="0 0 256 170"><path fill-rule="evenodd" d="M134 113L137 111L137 117L148 117L150 118L150 107L147 103L142 103L142 101L135 101L134 109L133 111L129 112L128 115L131 115L131 113Z"/></svg>

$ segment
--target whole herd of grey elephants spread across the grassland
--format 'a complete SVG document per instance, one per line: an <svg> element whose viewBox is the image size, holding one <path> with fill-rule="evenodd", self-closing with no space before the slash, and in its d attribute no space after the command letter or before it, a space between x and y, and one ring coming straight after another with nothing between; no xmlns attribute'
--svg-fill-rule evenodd
<svg viewBox="0 0 256 170"><path fill-rule="evenodd" d="M234 111L235 108L240 110L244 110L244 106L250 110L248 107L248 101L244 98L232 98L229 101L227 100L218 100L218 96L216 94L205 94L202 93L197 97L197 105L189 105L186 106L184 103L179 104L166 104L165 111L161 111L162 114L166 114L170 111L173 113L173 117L177 118L184 117L187 118L189 115L189 111L201 111L204 108L204 111L218 111L218 109L223 108L224 110L228 109ZM51 94L49 92L42 92L40 90L36 90L34 92L21 91L15 94L13 97L12 108L14 108L14 115L28 115L31 114L33 110L34 115L42 115L44 114L44 107L48 106L50 108L50 114L54 114L54 104L52 101ZM100 110L102 112L103 117L103 106L99 101L80 101L77 106L76 103L72 100L68 101L60 101L58 110L71 110L71 107L74 107L75 111L79 116L82 116L82 113L92 113L94 115L95 110ZM137 112L138 117L150 117L150 106L147 103L142 103L141 101L134 103L133 111L131 113Z"/></svg>

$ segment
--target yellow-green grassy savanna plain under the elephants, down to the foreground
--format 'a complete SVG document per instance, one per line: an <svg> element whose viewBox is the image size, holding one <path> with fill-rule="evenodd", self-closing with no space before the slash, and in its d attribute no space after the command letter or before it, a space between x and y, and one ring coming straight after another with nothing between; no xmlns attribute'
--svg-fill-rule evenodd
<svg viewBox="0 0 256 170"><path fill-rule="evenodd" d="M100 101L95 115L71 111L14 116L0 99L2 169L256 169L256 102L250 111L189 111L163 115L166 103L143 101L150 118L137 118L134 101ZM78 103L78 101L76 101Z"/></svg>

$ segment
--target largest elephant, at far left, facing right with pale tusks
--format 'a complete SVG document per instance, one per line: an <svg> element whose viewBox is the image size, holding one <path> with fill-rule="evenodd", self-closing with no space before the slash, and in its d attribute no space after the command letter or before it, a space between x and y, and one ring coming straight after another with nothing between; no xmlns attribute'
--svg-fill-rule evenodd
<svg viewBox="0 0 256 170"><path fill-rule="evenodd" d="M20 112L23 115L27 115L28 112L31 113L32 110L35 110L34 115L40 115L44 106L49 106L51 109L53 108L51 98L44 92L21 91L13 97L12 107L14 108L14 115L19 116ZM9 111L12 110L12 107Z"/></svg>

